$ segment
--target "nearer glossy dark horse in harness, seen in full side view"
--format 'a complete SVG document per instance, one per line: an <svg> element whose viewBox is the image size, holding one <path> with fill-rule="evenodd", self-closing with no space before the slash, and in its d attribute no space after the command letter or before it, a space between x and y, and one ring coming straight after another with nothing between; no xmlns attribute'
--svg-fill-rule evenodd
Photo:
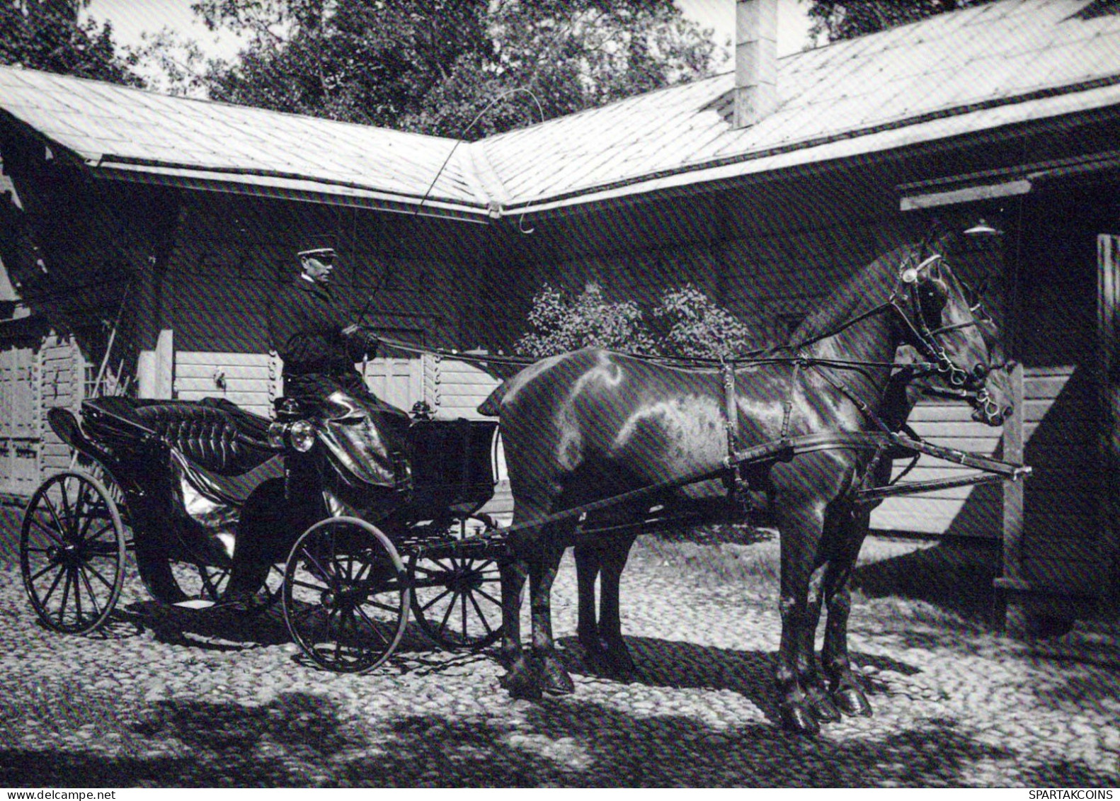
<svg viewBox="0 0 1120 801"><path fill-rule="evenodd" d="M830 706L867 714L843 644L827 632L825 687L812 640L821 588L838 596L858 551L842 519L872 466L871 440L859 435L884 426L878 412L900 345L979 394L991 358L978 324L943 254L922 243L880 257L833 290L794 333L801 346L791 357L692 370L589 347L517 373L498 407L514 501L503 566L505 688L524 697L575 690L556 654L550 609L560 557L575 544L571 510L604 499L637 509L654 497L725 496L745 479L777 512L783 725L815 734ZM743 454L745 464L730 468ZM529 653L520 631L526 579Z"/></svg>

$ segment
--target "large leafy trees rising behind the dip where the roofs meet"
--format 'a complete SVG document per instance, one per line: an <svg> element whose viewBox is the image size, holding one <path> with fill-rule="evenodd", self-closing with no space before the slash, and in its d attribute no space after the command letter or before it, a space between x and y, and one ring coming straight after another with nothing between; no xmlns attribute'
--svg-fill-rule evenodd
<svg viewBox="0 0 1120 801"><path fill-rule="evenodd" d="M199 0L192 8L211 29L249 39L233 63L208 68L215 100L456 138L601 105L716 65L708 37L672 0Z"/></svg>

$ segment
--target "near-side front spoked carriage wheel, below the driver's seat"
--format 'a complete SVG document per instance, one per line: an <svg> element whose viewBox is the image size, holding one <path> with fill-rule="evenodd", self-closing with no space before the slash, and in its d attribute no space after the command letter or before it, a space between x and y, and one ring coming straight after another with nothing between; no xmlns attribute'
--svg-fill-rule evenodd
<svg viewBox="0 0 1120 801"><path fill-rule="evenodd" d="M327 670L364 673L389 659L404 635L410 597L396 548L356 518L312 525L284 566L288 632Z"/></svg>

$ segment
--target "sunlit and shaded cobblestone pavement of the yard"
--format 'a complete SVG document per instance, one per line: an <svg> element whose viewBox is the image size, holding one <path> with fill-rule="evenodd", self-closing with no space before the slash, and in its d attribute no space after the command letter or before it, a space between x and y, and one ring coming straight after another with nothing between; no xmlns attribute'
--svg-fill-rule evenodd
<svg viewBox="0 0 1120 801"><path fill-rule="evenodd" d="M853 658L875 717L816 739L775 726L772 593L646 538L624 576L641 669L578 658L566 558L556 631L576 692L511 700L491 654L410 632L376 672L306 667L278 616L157 614L132 579L97 636L41 628L0 564L0 785L1114 786L1118 676L1036 661L980 628L860 599Z"/></svg>

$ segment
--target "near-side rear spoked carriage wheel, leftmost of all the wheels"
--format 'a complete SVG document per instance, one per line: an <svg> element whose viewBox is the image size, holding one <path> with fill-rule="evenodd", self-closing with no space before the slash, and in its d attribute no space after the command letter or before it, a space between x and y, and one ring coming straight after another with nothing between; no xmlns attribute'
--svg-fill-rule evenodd
<svg viewBox="0 0 1120 801"><path fill-rule="evenodd" d="M19 537L24 587L48 628L90 632L109 617L124 586L121 513L105 485L65 471L35 491Z"/></svg>

